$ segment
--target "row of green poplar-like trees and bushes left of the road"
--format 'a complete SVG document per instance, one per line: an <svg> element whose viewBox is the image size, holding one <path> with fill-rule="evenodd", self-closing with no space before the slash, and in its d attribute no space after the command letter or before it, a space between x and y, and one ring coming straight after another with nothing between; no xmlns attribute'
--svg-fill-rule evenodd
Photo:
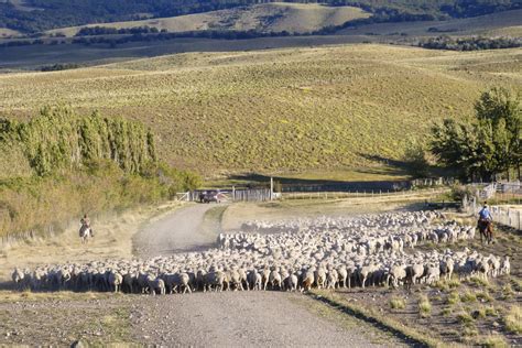
<svg viewBox="0 0 522 348"><path fill-rule="evenodd" d="M0 236L172 199L199 184L157 159L140 122L68 107L44 108L26 122L0 119Z"/></svg>

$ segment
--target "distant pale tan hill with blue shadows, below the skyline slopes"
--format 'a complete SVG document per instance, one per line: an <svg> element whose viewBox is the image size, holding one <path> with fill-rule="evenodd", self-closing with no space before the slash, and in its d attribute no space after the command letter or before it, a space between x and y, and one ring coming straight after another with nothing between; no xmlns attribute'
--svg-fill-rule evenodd
<svg viewBox="0 0 522 348"><path fill-rule="evenodd" d="M84 26L135 28L151 26L168 32L199 30L257 30L259 32L312 32L328 25L340 25L370 13L354 7L326 7L317 3L263 3L173 18L150 19ZM84 26L62 28L48 33L74 36Z"/></svg>

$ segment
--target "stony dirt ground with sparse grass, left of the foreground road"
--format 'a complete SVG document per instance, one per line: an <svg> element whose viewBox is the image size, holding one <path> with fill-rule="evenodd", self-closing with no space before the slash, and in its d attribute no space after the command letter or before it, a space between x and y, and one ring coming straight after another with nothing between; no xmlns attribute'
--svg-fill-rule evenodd
<svg viewBox="0 0 522 348"><path fill-rule="evenodd" d="M0 346L67 346L78 339L101 346L130 340L130 298L70 293L67 297L0 302Z"/></svg>

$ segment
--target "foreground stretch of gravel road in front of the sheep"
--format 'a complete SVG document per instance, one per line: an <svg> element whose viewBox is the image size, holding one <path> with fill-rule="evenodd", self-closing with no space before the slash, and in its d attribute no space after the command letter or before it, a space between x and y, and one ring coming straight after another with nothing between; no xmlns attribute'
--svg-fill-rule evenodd
<svg viewBox="0 0 522 348"><path fill-rule="evenodd" d="M168 347L377 347L308 312L313 302L281 292L155 296L133 306L134 339Z"/></svg>

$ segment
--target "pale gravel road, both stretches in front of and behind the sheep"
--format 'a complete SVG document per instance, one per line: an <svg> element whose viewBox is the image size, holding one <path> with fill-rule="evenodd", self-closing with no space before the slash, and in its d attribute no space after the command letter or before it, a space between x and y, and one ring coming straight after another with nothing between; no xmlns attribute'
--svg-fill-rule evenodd
<svg viewBox="0 0 522 348"><path fill-rule="evenodd" d="M198 204L178 209L138 233L134 250L140 257L204 250L214 244L221 218L232 207ZM313 302L280 292L146 296L132 306L132 335L162 346L374 346L357 329L311 313Z"/></svg>

